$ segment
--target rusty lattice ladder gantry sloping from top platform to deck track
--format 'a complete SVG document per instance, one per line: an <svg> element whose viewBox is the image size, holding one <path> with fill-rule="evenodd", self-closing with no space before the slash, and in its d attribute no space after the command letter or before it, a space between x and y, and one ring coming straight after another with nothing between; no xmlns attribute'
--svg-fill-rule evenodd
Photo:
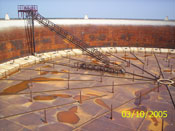
<svg viewBox="0 0 175 131"><path fill-rule="evenodd" d="M86 52L87 55L101 62L101 65L81 63L80 68L87 68L87 69L90 68L93 70L102 70L102 71L108 71L108 72L114 72L114 73L124 73L125 71L124 68L118 65L114 66L114 64L110 62L110 59L105 54L103 54L102 52L98 51L95 48L90 48L90 46L87 43L80 40L76 36L72 35L71 33L67 32L60 26L54 24L49 19L46 19L41 14L39 14L37 5L19 5L18 6L18 16L21 16L23 19L25 18L32 19L32 32L33 33L31 35L32 39L30 41L33 43L32 45L34 47L34 52L35 52L34 20L37 20L40 24L44 25L45 27L55 32L57 35L61 36L62 38L73 43L77 48L81 49L83 52Z"/></svg>

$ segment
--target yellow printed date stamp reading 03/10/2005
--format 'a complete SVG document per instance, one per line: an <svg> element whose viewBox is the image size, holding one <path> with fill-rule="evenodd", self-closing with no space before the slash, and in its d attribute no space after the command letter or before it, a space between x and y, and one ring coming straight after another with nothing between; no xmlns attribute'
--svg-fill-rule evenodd
<svg viewBox="0 0 175 131"><path fill-rule="evenodd" d="M167 111L122 111L123 118L167 118Z"/></svg>

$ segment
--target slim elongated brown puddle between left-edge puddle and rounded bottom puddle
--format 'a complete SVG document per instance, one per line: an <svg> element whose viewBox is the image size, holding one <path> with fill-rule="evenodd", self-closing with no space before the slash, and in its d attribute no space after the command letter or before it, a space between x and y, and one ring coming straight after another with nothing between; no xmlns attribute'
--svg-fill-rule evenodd
<svg viewBox="0 0 175 131"><path fill-rule="evenodd" d="M70 98L72 97L71 95L68 94L53 94L53 95L39 95L39 96L35 96L33 97L34 100L54 100L57 97L61 97L61 98Z"/></svg>

